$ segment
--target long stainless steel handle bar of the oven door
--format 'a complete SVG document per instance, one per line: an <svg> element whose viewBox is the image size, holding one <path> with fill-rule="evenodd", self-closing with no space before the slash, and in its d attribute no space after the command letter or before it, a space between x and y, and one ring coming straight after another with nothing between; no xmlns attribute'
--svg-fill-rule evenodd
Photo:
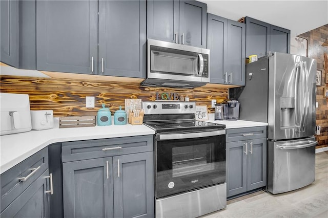
<svg viewBox="0 0 328 218"><path fill-rule="evenodd" d="M180 134L158 134L159 140L172 140L172 139L191 139L209 136L219 136L226 134L226 129L210 131L210 132L198 132L198 133L180 133Z"/></svg>

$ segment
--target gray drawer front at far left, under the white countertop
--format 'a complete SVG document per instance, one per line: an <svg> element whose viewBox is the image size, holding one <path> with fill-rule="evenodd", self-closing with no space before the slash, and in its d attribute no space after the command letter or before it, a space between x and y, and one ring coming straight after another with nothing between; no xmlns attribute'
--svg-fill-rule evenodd
<svg viewBox="0 0 328 218"><path fill-rule="evenodd" d="M1 175L1 211L48 169L48 147Z"/></svg>

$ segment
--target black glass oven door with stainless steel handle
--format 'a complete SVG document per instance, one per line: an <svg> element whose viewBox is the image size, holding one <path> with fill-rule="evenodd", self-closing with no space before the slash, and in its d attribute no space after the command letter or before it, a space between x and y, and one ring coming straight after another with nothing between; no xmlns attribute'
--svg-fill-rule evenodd
<svg viewBox="0 0 328 218"><path fill-rule="evenodd" d="M226 182L226 130L157 134L156 199Z"/></svg>

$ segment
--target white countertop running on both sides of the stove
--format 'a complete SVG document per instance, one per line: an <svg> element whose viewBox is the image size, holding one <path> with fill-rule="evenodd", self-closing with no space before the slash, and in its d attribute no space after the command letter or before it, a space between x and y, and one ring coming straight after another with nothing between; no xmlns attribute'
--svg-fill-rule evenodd
<svg viewBox="0 0 328 218"><path fill-rule="evenodd" d="M261 122L214 120L213 118L214 114L209 114L209 120L204 121L225 124L227 129L268 125L268 123ZM58 119L55 118L52 129L31 130L25 133L0 136L0 173L52 143L153 134L155 134L154 130L145 125L131 124L58 128Z"/></svg>

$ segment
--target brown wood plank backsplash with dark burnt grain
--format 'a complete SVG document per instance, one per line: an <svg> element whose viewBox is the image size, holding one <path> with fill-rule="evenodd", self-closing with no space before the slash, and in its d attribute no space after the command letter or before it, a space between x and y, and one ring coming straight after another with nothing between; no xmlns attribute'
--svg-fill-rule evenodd
<svg viewBox="0 0 328 218"><path fill-rule="evenodd" d="M214 113L214 108L210 108L212 99L220 102L228 98L227 88L173 89L140 86L139 82L6 75L0 77L0 91L28 94L31 110L53 110L54 117L96 115L103 103L110 106L113 115L120 105L124 108L126 98L154 101L156 92L188 95L190 101L196 101L196 105L207 105L209 113ZM86 96L95 97L94 108L86 107Z"/></svg>

